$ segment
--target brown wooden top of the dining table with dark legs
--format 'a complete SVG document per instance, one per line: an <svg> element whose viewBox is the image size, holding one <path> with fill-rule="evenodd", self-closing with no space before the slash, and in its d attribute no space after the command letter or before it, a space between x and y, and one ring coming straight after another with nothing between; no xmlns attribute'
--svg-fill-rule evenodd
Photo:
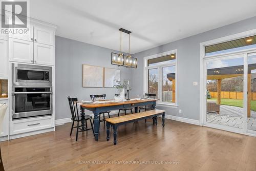
<svg viewBox="0 0 256 171"><path fill-rule="evenodd" d="M132 104L132 103L143 103L143 102L157 101L157 100L159 100L159 99L127 100L127 101L119 101L119 102L81 104L81 106L83 108L100 108L100 107L105 107L105 106Z"/></svg>

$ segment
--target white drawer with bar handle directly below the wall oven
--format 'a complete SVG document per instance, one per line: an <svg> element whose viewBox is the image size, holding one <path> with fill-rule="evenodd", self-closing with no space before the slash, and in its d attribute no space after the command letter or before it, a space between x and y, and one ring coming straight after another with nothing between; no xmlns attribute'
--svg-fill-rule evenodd
<svg viewBox="0 0 256 171"><path fill-rule="evenodd" d="M49 127L53 127L53 117L12 121L10 124L10 135L47 129Z"/></svg>

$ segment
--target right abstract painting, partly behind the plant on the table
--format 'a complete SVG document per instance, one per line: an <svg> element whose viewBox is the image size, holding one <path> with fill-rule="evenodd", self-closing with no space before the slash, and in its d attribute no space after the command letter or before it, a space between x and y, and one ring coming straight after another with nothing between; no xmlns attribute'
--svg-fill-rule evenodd
<svg viewBox="0 0 256 171"><path fill-rule="evenodd" d="M120 81L121 71L112 68L104 68L104 88L113 88L115 80Z"/></svg>

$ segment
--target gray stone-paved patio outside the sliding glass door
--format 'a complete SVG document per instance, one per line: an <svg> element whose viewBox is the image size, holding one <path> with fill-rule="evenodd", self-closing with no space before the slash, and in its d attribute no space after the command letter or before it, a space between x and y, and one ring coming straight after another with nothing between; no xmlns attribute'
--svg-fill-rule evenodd
<svg viewBox="0 0 256 171"><path fill-rule="evenodd" d="M220 125L243 127L243 108L230 105L221 105L220 114L207 112L207 122ZM256 112L251 111L251 117L247 118L247 129L256 131Z"/></svg>

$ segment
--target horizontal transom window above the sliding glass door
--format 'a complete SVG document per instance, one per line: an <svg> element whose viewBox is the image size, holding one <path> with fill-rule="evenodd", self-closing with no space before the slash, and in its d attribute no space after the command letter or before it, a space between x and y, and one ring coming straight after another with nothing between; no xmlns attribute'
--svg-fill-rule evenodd
<svg viewBox="0 0 256 171"><path fill-rule="evenodd" d="M256 47L256 35L205 47L205 56L234 52Z"/></svg>

